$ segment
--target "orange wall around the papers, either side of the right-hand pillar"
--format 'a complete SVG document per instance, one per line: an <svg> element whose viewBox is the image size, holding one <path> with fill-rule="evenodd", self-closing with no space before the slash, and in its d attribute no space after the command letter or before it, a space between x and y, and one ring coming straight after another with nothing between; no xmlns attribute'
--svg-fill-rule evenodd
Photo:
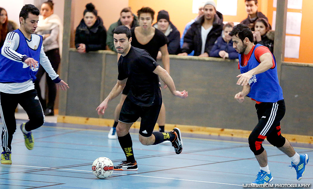
<svg viewBox="0 0 313 189"><path fill-rule="evenodd" d="M273 19L273 11L276 8L273 7L273 0L268 0L268 18L269 22L272 23ZM285 58L286 62L303 62L303 63L313 63L311 54L313 52L313 36L312 36L312 29L310 26L313 25L312 20L312 7L313 1L302 1L302 10L298 9L288 9L288 12L297 12L302 13L302 20L301 20L301 33L300 33L300 52L299 52L299 59L291 59ZM291 34L286 34L291 35ZM299 36L299 35L293 35Z"/></svg>

